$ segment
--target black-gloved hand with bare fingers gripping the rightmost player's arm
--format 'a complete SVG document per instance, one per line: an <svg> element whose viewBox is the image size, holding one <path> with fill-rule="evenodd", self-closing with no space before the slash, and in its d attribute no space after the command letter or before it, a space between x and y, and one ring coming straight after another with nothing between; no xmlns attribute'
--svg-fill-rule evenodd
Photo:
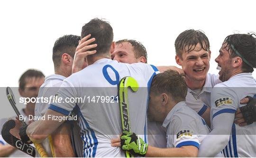
<svg viewBox="0 0 256 158"><path fill-rule="evenodd" d="M256 98L245 97L240 100L240 104L246 104L240 107L235 114L235 123L239 126L246 126L256 121Z"/></svg>

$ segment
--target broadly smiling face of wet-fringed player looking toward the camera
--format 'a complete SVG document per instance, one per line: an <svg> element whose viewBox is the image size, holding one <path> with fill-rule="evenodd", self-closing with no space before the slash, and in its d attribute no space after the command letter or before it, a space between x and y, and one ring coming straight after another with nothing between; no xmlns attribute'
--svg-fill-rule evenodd
<svg viewBox="0 0 256 158"><path fill-rule="evenodd" d="M210 68L210 51L201 49L197 44L195 49L189 53L182 53L182 58L176 55L176 62L182 66L186 79L203 81Z"/></svg>

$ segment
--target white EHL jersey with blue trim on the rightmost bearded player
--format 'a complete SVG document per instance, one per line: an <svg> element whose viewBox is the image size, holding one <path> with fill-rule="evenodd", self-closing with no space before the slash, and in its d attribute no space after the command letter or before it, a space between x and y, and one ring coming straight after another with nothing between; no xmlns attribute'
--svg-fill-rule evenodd
<svg viewBox="0 0 256 158"><path fill-rule="evenodd" d="M240 100L246 96L255 97L255 94L256 82L251 73L235 75L228 81L216 85L212 90L212 128L221 131L223 127L229 129L230 133L229 143L222 144L223 147L227 145L223 149L225 157L256 157L256 122L244 127L233 123L237 109L244 106L240 104Z"/></svg>

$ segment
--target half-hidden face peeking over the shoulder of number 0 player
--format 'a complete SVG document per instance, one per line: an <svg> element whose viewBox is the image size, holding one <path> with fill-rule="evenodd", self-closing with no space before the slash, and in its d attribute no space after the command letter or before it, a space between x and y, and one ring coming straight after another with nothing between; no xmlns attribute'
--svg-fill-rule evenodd
<svg viewBox="0 0 256 158"><path fill-rule="evenodd" d="M133 46L128 42L117 44L114 52L111 54L111 59L129 64L139 62L135 56Z"/></svg>

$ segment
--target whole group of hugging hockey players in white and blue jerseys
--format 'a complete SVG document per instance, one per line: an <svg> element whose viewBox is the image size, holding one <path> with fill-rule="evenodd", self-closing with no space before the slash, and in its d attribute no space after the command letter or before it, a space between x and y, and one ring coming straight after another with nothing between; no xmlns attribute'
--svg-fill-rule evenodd
<svg viewBox="0 0 256 158"><path fill-rule="evenodd" d="M42 72L28 70L19 79L22 97L85 98L28 103L22 115L76 115L77 120L27 120L28 125L16 120L11 133L26 143L42 143L49 157L256 157L256 35L224 39L215 59L218 75L208 73L210 43L202 31L186 30L174 45L182 69L150 65L141 43L113 42L110 24L92 19L81 36L56 40L55 74L44 79ZM130 131L122 131L116 98L119 81L127 76L139 88L128 92ZM111 101L95 103L88 96ZM0 157L17 156L2 138L0 147Z"/></svg>

